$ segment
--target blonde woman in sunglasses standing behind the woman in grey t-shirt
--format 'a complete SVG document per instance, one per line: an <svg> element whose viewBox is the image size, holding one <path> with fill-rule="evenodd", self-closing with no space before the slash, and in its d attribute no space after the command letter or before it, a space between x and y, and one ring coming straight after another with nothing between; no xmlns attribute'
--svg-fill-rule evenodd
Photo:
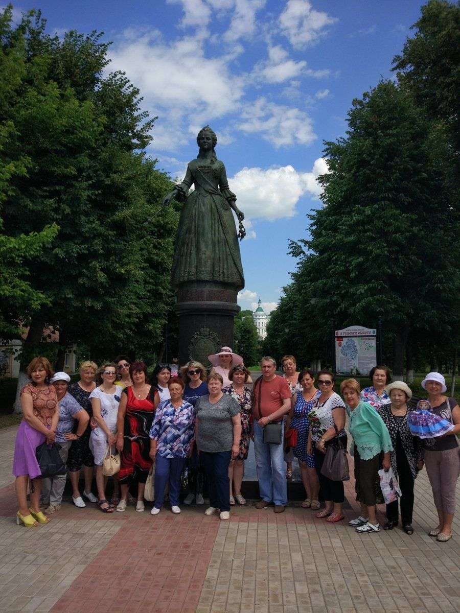
<svg viewBox="0 0 460 613"><path fill-rule="evenodd" d="M209 394L206 383L207 375L204 366L201 362L192 360L187 362L180 369L182 381L185 383L183 399L194 407L198 398ZM185 497L184 504L191 504L196 501L196 504L204 504L203 485L204 485L204 467L201 459L196 451L196 443L193 446L193 453L187 462L190 480L189 492Z"/></svg>

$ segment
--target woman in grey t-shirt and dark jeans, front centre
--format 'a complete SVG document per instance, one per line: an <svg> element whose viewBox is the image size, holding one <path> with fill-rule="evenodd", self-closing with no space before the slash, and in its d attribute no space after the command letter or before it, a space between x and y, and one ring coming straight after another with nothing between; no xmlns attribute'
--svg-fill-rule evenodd
<svg viewBox="0 0 460 613"><path fill-rule="evenodd" d="M228 465L240 451L241 409L234 398L223 394L221 375L212 373L207 384L209 395L198 398L195 405L196 444L209 484L205 515L220 509L220 519L229 519Z"/></svg>

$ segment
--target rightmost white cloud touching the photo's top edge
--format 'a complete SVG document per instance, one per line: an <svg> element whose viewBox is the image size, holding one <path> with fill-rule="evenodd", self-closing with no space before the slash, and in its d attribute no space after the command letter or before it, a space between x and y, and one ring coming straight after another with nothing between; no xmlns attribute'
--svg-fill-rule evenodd
<svg viewBox="0 0 460 613"><path fill-rule="evenodd" d="M283 34L291 45L302 48L318 42L326 34L325 28L337 21L328 13L313 9L309 0L288 0L285 10L279 17Z"/></svg>

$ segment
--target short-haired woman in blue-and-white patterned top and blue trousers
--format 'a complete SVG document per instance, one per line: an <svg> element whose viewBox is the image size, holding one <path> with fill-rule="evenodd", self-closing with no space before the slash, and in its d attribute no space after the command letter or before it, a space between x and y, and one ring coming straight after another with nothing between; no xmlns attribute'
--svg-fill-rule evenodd
<svg viewBox="0 0 460 613"><path fill-rule="evenodd" d="M171 511L180 513L180 476L194 441L195 409L182 398L184 383L175 377L169 379L168 387L171 398L159 403L150 430L150 457L155 462L152 515L158 515L163 506L168 480Z"/></svg>

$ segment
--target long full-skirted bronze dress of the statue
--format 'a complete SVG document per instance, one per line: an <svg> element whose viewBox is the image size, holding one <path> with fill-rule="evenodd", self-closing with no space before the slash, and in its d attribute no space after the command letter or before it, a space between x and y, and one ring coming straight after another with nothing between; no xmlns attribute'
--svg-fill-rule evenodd
<svg viewBox="0 0 460 613"><path fill-rule="evenodd" d="M187 196L194 183L195 189ZM187 166L177 186L185 199L174 246L171 283L177 289L186 281L231 283L244 287L243 267L235 220L228 200L236 196L228 188L225 166L197 158Z"/></svg>

